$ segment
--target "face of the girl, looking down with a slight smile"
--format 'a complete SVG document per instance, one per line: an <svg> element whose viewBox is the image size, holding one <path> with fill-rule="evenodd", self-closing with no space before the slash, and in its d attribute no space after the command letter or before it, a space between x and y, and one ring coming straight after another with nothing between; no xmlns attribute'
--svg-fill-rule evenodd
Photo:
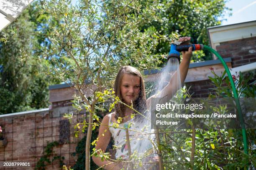
<svg viewBox="0 0 256 170"><path fill-rule="evenodd" d="M120 90L125 104L130 105L131 101L136 100L141 90L141 78L124 73Z"/></svg>

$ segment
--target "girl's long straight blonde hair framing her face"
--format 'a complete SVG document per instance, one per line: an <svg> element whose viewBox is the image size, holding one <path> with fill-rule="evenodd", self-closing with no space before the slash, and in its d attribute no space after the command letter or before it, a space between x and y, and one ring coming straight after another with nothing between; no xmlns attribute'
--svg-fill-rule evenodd
<svg viewBox="0 0 256 170"><path fill-rule="evenodd" d="M115 95L118 96L122 102L124 102L121 95L120 88L121 88L122 78L125 73L135 75L141 78L140 92L138 93L138 96L133 103L133 108L138 112L140 112L141 114L144 114L146 110L145 85L144 85L144 81L141 73L135 67L123 66L120 68L115 78L115 86L114 86ZM125 105L123 105L122 103L117 103L115 105L116 119L118 119L118 117L122 117L122 118L124 117L124 107ZM142 120L141 117L142 117L141 115L136 114L135 120Z"/></svg>

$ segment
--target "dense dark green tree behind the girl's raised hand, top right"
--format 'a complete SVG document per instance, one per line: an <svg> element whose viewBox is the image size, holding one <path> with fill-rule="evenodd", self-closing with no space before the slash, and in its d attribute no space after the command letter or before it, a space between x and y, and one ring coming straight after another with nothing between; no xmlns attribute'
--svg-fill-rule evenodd
<svg viewBox="0 0 256 170"><path fill-rule="evenodd" d="M151 28L162 36L169 36L178 32L182 36L192 37L191 43L210 45L207 28L220 25L219 17L230 9L225 7L225 0L159 0L154 1L156 15L161 20L152 22L141 21L141 31ZM141 2L142 6L148 5L148 0ZM169 52L168 41L162 41L155 51L166 54ZM212 60L212 55L207 51L195 52L192 62Z"/></svg>

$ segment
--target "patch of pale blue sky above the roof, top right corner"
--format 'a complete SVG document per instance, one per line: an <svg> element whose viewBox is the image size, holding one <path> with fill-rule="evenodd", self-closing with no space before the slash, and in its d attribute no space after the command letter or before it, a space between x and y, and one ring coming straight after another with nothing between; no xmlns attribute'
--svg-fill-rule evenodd
<svg viewBox="0 0 256 170"><path fill-rule="evenodd" d="M225 14L221 25L230 25L235 23L243 23L246 21L256 20L256 0L229 0L226 2L226 7L232 8L232 16ZM219 19L223 19L219 18Z"/></svg>

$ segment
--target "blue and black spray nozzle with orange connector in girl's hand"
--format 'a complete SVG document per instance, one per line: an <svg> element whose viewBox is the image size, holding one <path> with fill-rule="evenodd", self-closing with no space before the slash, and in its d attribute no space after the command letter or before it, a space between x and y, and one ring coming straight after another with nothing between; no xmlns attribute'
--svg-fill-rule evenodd
<svg viewBox="0 0 256 170"><path fill-rule="evenodd" d="M170 57L176 57L180 61L180 55L179 52L182 51L188 51L189 47L192 47L192 51L195 50L202 50L204 45L202 44L188 44L187 41L181 42L181 41L173 41L171 43L171 49L169 52L169 55L167 57L167 60L169 60Z"/></svg>

